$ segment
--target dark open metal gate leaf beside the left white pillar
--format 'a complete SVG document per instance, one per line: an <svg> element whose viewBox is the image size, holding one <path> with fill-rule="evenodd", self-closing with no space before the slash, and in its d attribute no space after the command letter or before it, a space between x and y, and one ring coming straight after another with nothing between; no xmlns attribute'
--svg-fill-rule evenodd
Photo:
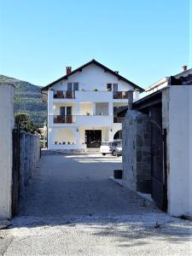
<svg viewBox="0 0 192 256"><path fill-rule="evenodd" d="M20 129L13 130L12 216L18 213L20 198Z"/></svg>

